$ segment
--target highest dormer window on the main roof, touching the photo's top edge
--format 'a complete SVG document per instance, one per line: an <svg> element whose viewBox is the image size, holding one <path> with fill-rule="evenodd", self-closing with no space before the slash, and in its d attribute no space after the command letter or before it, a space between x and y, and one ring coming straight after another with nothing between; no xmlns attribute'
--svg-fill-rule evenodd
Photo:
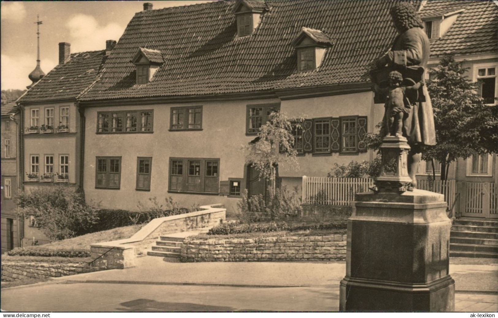
<svg viewBox="0 0 498 318"><path fill-rule="evenodd" d="M267 7L264 1L238 1L233 9L237 16L237 35L242 37L252 34L259 22L261 22L261 15L266 10Z"/></svg>

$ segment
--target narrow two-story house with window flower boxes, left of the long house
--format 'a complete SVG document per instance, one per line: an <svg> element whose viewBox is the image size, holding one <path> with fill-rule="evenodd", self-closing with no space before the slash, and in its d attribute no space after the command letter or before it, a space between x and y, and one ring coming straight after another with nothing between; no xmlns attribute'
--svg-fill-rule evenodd
<svg viewBox="0 0 498 318"><path fill-rule="evenodd" d="M59 65L18 99L25 191L57 183L81 187L85 116L78 97L98 79L115 43L108 40L106 50L74 54L69 43L59 43ZM23 245L47 242L33 225L26 222Z"/></svg>

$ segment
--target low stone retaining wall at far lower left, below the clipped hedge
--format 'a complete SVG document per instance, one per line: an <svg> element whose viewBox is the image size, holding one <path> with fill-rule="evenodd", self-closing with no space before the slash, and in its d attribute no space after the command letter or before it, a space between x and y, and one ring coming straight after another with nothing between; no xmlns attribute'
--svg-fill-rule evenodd
<svg viewBox="0 0 498 318"><path fill-rule="evenodd" d="M98 271L88 264L1 263L1 281L51 278Z"/></svg>

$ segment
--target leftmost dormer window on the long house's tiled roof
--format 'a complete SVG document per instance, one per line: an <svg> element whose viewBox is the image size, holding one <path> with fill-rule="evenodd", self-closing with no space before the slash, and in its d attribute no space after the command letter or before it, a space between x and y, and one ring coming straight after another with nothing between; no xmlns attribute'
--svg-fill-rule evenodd
<svg viewBox="0 0 498 318"><path fill-rule="evenodd" d="M140 47L131 63L136 67L136 84L142 85L150 82L157 69L164 64L164 59L161 51Z"/></svg>

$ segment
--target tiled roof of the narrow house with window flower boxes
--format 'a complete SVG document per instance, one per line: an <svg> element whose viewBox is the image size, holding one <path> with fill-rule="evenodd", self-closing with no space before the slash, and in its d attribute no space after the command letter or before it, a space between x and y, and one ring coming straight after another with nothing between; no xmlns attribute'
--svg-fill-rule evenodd
<svg viewBox="0 0 498 318"><path fill-rule="evenodd" d="M105 60L105 50L71 54L71 59L57 65L31 87L19 102L76 98L95 82Z"/></svg>

